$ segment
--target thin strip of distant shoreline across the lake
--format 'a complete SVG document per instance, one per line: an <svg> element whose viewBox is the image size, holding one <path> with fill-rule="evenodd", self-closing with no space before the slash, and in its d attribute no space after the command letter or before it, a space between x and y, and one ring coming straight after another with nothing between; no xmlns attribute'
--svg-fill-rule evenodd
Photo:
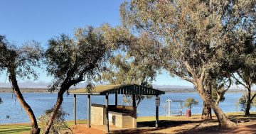
<svg viewBox="0 0 256 134"><path fill-rule="evenodd" d="M75 90L75 89L70 89ZM178 88L178 89L159 89L162 91L166 91L167 93L196 93L193 88ZM13 90L11 88L0 88L0 93L12 93ZM48 89L46 88L21 88L22 93L49 93ZM243 93L243 90L240 89L230 89L227 93Z"/></svg>

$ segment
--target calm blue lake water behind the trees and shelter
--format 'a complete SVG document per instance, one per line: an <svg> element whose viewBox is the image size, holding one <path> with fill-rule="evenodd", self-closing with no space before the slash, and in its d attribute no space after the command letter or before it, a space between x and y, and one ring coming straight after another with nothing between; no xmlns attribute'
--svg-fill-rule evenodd
<svg viewBox="0 0 256 134"><path fill-rule="evenodd" d="M44 113L44 111L55 104L57 94L50 93L25 93L24 98L33 109L36 117ZM242 96L242 93L228 93L225 94L225 101L220 103L222 110L226 112L240 111L240 108L235 106L238 99ZM0 104L0 123L26 123L29 122L28 116L23 108L20 106L18 101L12 97L11 93L1 93L1 99L4 101ZM110 95L110 104L114 104L114 95ZM167 99L181 99L186 100L188 97L193 97L199 101L199 105L192 108L193 113L201 113L203 101L196 93L166 93L160 96L161 103L159 106L159 115L166 115L166 100ZM105 96L92 96L92 104L105 104ZM118 103L122 104L122 96L118 96ZM127 104L125 104L127 105ZM73 94L64 96L63 110L69 113L66 117L67 120L73 120ZM171 103L171 111L177 111L179 109L178 103ZM252 107L252 111L256 111L255 107ZM137 109L139 116L154 116L155 115L155 98L145 99L139 104ZM186 111L186 108L183 108ZM6 119L6 116L10 116ZM77 118L87 118L87 96L77 97Z"/></svg>

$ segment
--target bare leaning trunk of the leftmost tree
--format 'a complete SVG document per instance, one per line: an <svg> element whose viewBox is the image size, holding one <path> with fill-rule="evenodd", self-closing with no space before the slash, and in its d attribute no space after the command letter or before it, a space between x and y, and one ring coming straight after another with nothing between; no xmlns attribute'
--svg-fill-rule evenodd
<svg viewBox="0 0 256 134"><path fill-rule="evenodd" d="M21 94L21 90L19 89L18 86L18 82L16 79L16 73L14 71L14 69L9 68L9 80L11 81L11 85L13 86L14 89L14 93L16 94L16 97L18 99L18 102L21 104L21 106L23 107L23 109L26 111L26 113L28 114L28 117L31 121L31 133L32 134L39 134L40 133L40 129L38 128L38 123L36 121L36 116L34 115L31 107L26 103L25 99L23 98L22 94Z"/></svg>

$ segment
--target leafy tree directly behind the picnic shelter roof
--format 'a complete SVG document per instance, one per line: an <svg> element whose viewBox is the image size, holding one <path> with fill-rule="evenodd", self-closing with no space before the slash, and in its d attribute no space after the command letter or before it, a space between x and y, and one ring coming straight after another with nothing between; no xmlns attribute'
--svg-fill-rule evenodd
<svg viewBox="0 0 256 134"><path fill-rule="evenodd" d="M97 81L107 82L108 84L140 84L152 86L159 66L152 64L149 53L154 54L153 47L158 43L146 33L133 35L127 29L117 26L111 28L109 25L102 26L106 43L115 46L114 55L110 58L105 71L100 73ZM144 48L142 48L144 47ZM156 60L154 60L156 61ZM132 96L124 95L123 101L132 104ZM151 96L135 96L136 106L143 99Z"/></svg>

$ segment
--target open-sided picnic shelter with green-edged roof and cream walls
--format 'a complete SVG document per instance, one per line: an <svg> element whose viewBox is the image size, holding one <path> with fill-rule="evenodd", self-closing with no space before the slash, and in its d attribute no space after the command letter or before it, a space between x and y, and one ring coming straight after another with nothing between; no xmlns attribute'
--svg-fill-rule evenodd
<svg viewBox="0 0 256 134"><path fill-rule="evenodd" d="M80 91L81 92L81 91ZM109 95L114 94L115 103L109 105ZM117 94L126 94L132 96L132 106L118 105ZM76 96L87 95L87 125L106 125L106 132L110 132L110 125L117 128L137 128L137 109L136 109L136 95L151 95L156 96L156 128L158 128L159 121L159 95L165 94L164 91L141 86L138 84L126 85L105 85L95 86L92 93L74 93L74 118L76 124ZM101 95L105 96L105 105L91 104L91 96Z"/></svg>

